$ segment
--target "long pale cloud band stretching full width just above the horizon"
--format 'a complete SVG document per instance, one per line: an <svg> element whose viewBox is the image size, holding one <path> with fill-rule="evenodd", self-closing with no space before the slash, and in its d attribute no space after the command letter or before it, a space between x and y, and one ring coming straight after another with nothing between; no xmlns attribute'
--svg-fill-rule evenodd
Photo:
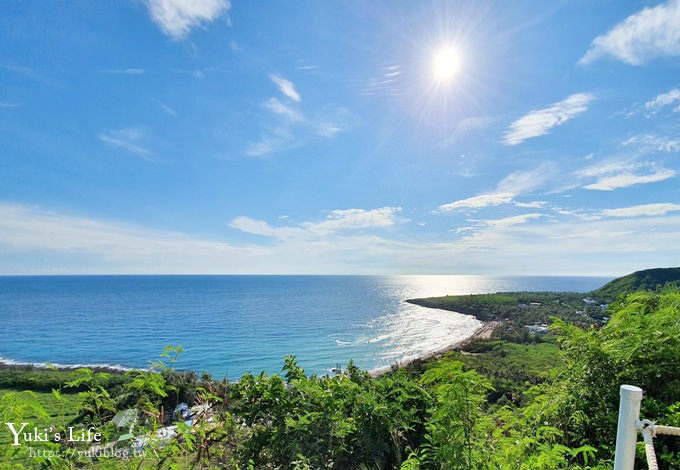
<svg viewBox="0 0 680 470"><path fill-rule="evenodd" d="M398 208L333 211L284 227L238 217L234 228L267 238L235 246L0 202L0 273L623 275L680 259L680 215L665 215L677 205L648 206L639 217L630 208L595 221L507 217L461 227L464 236L447 241L403 237ZM328 221L336 225L312 230ZM377 235L395 232L398 240Z"/></svg>

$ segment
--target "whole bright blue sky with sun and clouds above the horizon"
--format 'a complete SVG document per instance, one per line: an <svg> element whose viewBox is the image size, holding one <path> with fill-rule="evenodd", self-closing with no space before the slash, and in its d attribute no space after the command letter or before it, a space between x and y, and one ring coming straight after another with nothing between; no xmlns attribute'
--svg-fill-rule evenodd
<svg viewBox="0 0 680 470"><path fill-rule="evenodd" d="M2 8L0 274L680 265L680 0Z"/></svg>

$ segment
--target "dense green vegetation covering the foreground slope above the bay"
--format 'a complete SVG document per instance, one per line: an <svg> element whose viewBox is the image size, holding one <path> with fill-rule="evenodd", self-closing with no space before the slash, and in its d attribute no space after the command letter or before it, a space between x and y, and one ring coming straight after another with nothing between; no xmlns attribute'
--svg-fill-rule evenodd
<svg viewBox="0 0 680 470"><path fill-rule="evenodd" d="M496 297L498 304L511 303L504 297ZM559 313L566 301L557 300L546 294L540 303ZM515 307L548 314L537 305ZM16 468L611 468L621 384L645 390L643 417L680 425L680 292L622 297L610 305L604 326L582 315L568 321L569 312L546 319L552 321L546 336L476 341L464 353L379 378L351 363L334 377L308 376L288 357L280 375L246 374L226 383L175 370L181 348L168 348L152 370L118 378L87 369L48 374L49 403L30 392L0 391L3 423L51 425L62 433L92 425L111 442L121 434L111 423L114 412L135 407L141 413L134 434L149 439L139 454L93 460L67 453L86 448L79 443L7 445L12 436L4 428L0 462ZM200 404L203 413L192 426L178 420L176 437L158 437L163 410L181 401ZM124 442L119 449L130 448ZM679 438L656 438L655 445L661 468L680 468ZM36 449L55 454L39 457Z"/></svg>

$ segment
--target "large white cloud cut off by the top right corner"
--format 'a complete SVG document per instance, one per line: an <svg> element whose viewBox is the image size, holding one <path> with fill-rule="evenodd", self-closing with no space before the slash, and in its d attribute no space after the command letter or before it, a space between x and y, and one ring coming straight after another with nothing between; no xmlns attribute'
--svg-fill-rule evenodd
<svg viewBox="0 0 680 470"><path fill-rule="evenodd" d="M629 16L596 37L579 64L612 57L630 65L643 65L657 57L680 55L680 0L669 0Z"/></svg>

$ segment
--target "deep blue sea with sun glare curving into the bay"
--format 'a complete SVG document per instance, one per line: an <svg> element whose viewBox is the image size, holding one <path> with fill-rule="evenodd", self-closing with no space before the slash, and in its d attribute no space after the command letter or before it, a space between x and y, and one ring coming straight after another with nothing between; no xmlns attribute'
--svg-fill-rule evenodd
<svg viewBox="0 0 680 470"><path fill-rule="evenodd" d="M287 354L325 374L440 350L479 322L406 299L501 291L587 292L602 277L0 277L0 360L147 367L167 345L177 368L236 379L278 373Z"/></svg>

